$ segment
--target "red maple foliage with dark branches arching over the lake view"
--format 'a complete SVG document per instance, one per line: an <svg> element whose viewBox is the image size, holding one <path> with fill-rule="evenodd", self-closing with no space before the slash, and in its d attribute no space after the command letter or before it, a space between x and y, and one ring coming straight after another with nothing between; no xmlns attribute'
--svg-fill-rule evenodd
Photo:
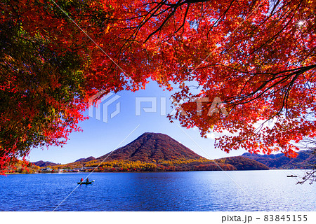
<svg viewBox="0 0 316 224"><path fill-rule="evenodd" d="M315 0L1 1L0 169L33 147L65 144L100 90L136 91L149 79L178 85L174 103L185 113L169 118L202 137L222 133L221 150L295 155L296 143L316 134L315 7ZM216 97L228 114L209 113ZM199 110L192 99L201 100Z"/></svg>

